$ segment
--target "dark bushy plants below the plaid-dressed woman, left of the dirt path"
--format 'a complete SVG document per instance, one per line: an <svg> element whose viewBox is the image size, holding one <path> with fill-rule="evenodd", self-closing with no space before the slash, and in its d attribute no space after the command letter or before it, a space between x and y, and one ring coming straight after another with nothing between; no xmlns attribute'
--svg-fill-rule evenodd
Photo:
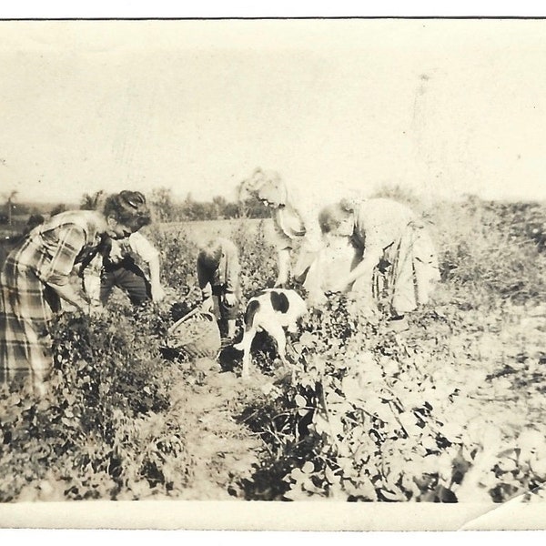
<svg viewBox="0 0 546 546"><path fill-rule="evenodd" d="M186 486L183 416L170 407L172 370L155 341L167 321L111 313L58 321L44 398L4 387L1 501L133 499Z"/></svg>

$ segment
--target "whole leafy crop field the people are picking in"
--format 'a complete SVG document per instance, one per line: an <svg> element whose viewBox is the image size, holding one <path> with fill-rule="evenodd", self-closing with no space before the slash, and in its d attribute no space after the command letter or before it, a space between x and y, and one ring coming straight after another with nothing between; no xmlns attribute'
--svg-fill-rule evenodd
<svg viewBox="0 0 546 546"><path fill-rule="evenodd" d="M168 296L121 295L55 332L48 396L0 392L0 501L525 501L546 480L546 207L477 199L427 215L442 280L396 333L335 295L291 336L174 358L171 306L197 304L204 238L241 251L246 298L276 275L268 220L162 224Z"/></svg>

